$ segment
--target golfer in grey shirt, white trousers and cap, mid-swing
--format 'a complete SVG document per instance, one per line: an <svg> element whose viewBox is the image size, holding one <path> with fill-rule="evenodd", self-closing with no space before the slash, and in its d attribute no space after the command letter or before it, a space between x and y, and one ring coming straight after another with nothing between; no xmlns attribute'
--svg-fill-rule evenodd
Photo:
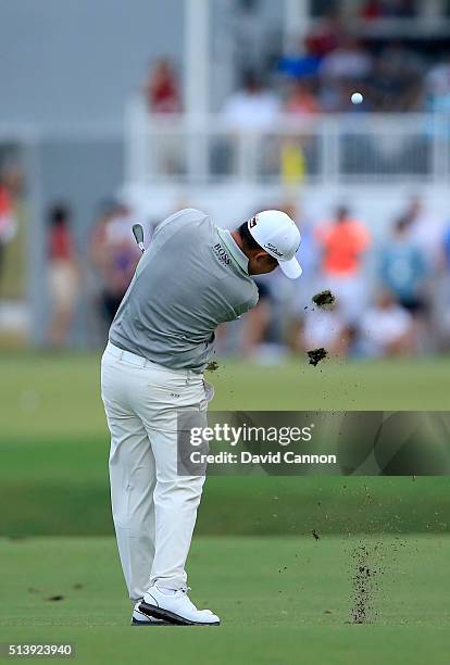
<svg viewBox="0 0 450 665"><path fill-rule="evenodd" d="M133 625L218 625L187 594L204 476L177 474L176 413L204 412L214 331L258 302L252 275L301 275L296 224L268 210L229 231L198 210L162 222L112 323L101 361L110 481Z"/></svg>

